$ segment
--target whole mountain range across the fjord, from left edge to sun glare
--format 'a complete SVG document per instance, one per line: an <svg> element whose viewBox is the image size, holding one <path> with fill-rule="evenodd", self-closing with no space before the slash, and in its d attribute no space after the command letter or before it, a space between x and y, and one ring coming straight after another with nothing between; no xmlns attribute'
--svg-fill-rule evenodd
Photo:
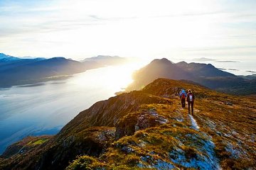
<svg viewBox="0 0 256 170"><path fill-rule="evenodd" d="M0 54L0 87L33 84L40 81L60 79L87 69L123 64L122 57L98 56L82 62L65 57L22 59Z"/></svg>

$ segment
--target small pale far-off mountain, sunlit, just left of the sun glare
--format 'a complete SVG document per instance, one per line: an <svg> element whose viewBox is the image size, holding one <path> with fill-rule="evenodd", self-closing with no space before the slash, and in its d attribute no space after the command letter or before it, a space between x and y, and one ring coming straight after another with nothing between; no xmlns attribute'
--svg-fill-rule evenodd
<svg viewBox="0 0 256 170"><path fill-rule="evenodd" d="M105 66L124 64L127 62L127 59L124 57L110 56L110 55L98 55L97 57L90 57L82 60L81 62L98 62Z"/></svg>

